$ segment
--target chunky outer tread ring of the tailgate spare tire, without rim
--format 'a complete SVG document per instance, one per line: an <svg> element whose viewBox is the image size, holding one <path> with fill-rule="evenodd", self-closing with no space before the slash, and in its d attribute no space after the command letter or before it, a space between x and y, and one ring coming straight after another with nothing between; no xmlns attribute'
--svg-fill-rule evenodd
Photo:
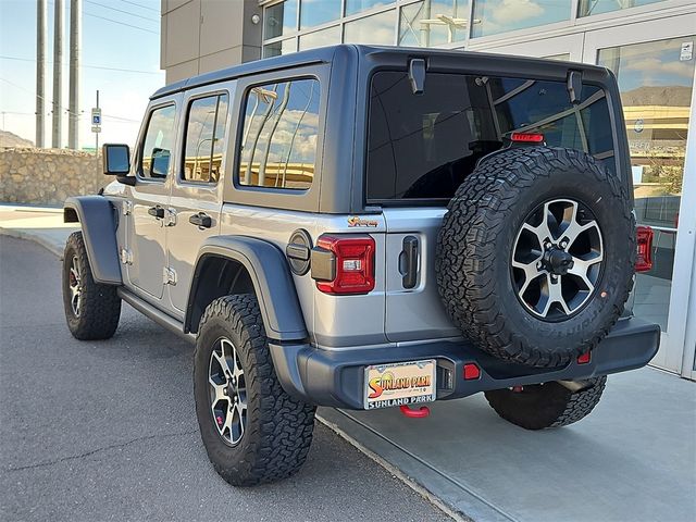
<svg viewBox="0 0 696 522"><path fill-rule="evenodd" d="M464 179L450 200L443 220L436 247L436 281L443 302L453 323L481 349L510 362L550 368L568 364L573 358L591 351L604 339L623 312L623 303L633 286L635 236L627 235L631 265L616 299L611 318L605 327L586 332L574 352L546 352L529 339L505 327L505 318L496 306L499 296L488 268L496 256L495 238L508 226L505 211L515 201L515 192L529 190L539 176L548 177L542 164L556 171L588 170L597 183L609 184L611 191L626 203L618 209L617 220L625 220L627 229L635 231L630 196L625 183L611 175L594 158L581 151L551 147L511 148L480 163ZM463 254L461 254L463 252Z"/></svg>

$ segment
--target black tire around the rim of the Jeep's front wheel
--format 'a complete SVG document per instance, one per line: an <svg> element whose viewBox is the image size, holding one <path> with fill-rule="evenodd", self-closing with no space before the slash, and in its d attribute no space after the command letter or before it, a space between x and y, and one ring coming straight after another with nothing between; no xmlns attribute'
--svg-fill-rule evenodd
<svg viewBox="0 0 696 522"><path fill-rule="evenodd" d="M66 282L63 281L63 303L65 318L73 337L79 340L109 339L116 332L121 319L121 298L116 286L95 283L87 257L85 239L80 231L72 233L65 244L63 253L63 277L66 277L73 253L80 264L82 296L79 316L75 318L70 304L70 296L65 295Z"/></svg>

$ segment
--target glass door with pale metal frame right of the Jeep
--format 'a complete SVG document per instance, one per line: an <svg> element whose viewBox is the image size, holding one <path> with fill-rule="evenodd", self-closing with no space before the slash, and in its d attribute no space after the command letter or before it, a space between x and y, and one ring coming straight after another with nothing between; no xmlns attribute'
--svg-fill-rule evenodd
<svg viewBox="0 0 696 522"><path fill-rule="evenodd" d="M655 231L654 268L638 274L636 316L660 324L664 333L655 365L691 375L683 364L684 332L692 284L693 223L682 223L689 120L693 115L696 65L696 21L693 15L662 18L588 33L583 61L610 69L616 75L631 149L635 211L638 224ZM689 153L693 153L689 151ZM687 210L691 215L691 209ZM688 244L692 244L691 247ZM679 249L678 249L679 244ZM680 251L682 261L676 262ZM686 252L692 252L691 256ZM691 258L691 259L688 259ZM679 270L675 270L679 268ZM682 296L682 294L684 294Z"/></svg>

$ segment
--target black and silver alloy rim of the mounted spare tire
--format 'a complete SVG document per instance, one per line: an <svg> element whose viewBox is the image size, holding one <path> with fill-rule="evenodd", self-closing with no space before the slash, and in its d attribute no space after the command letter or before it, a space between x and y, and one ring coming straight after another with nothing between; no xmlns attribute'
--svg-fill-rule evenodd
<svg viewBox="0 0 696 522"><path fill-rule="evenodd" d="M602 268L601 232L589 208L572 199L539 204L512 250L518 298L533 315L561 321L588 302Z"/></svg>

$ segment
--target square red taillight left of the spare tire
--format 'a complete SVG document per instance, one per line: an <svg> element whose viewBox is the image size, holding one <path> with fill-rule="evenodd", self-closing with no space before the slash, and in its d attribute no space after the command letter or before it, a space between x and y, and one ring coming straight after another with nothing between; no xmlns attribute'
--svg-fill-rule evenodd
<svg viewBox="0 0 696 522"><path fill-rule="evenodd" d="M312 277L316 279L316 288L324 294L338 295L372 291L374 250L374 239L368 235L320 236L312 252Z"/></svg>

